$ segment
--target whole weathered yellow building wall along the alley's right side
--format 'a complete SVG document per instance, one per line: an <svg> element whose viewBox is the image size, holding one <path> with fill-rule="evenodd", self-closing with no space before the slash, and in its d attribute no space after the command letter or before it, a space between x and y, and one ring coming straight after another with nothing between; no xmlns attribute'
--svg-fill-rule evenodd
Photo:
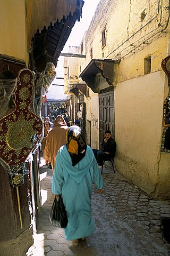
<svg viewBox="0 0 170 256"><path fill-rule="evenodd" d="M162 59L169 55L168 5L168 0L101 0L84 39L86 62L80 60L83 70L91 48L93 58L120 59L114 89L116 167L148 194L162 198L170 197L170 157L160 153L163 103L168 95L161 68ZM144 62L150 55L151 70L146 74ZM90 101L87 116L98 116L95 93L91 92ZM91 127L91 138L97 131Z"/></svg>

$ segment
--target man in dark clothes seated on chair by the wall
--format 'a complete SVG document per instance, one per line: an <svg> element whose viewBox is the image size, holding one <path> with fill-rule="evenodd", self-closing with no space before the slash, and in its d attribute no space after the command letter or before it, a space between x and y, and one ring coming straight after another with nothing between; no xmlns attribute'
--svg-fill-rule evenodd
<svg viewBox="0 0 170 256"><path fill-rule="evenodd" d="M105 139L101 143L101 150L92 149L96 157L96 161L99 166L103 165L104 161L107 161L115 156L116 142L111 137L111 131L105 131ZM101 167L99 167L101 169Z"/></svg>

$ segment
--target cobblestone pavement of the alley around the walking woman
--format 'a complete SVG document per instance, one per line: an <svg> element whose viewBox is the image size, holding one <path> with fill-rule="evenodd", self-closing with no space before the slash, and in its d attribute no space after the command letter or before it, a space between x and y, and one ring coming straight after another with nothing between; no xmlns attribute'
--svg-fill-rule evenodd
<svg viewBox="0 0 170 256"><path fill-rule="evenodd" d="M40 169L43 206L37 222L35 251L47 256L159 256L170 255L170 245L163 235L162 218L170 217L169 201L156 201L128 179L106 166L102 195L94 187L92 217L95 233L87 243L74 247L64 238L64 230L49 221L54 195L51 193L52 170Z"/></svg>

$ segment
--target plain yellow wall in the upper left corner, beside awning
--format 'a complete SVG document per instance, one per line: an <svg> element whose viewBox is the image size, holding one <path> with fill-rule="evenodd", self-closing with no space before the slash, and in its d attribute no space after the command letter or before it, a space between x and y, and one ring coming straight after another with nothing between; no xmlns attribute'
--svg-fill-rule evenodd
<svg viewBox="0 0 170 256"><path fill-rule="evenodd" d="M0 54L25 61L25 1L1 1Z"/></svg>

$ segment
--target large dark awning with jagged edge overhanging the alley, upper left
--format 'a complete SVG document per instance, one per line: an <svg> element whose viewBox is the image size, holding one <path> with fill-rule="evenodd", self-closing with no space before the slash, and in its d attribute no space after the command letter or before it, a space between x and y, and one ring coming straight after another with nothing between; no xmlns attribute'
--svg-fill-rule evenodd
<svg viewBox="0 0 170 256"><path fill-rule="evenodd" d="M55 0L48 1L43 10L39 10L39 1L28 1L28 37L30 38L33 29L37 25L37 32L32 37L32 61L35 63L36 71L43 71L47 62L57 65L58 57L69 38L75 21L80 21L83 0ZM46 1L44 1L44 4ZM34 4L34 5L33 5ZM34 6L34 8L33 8ZM48 12L44 13L44 10ZM36 10L36 13L35 13ZM33 13L32 13L33 12ZM50 15L48 15L50 14ZM36 18L37 17L37 18ZM33 19L34 18L34 19ZM39 24L39 20L41 20ZM55 22L54 22L55 20ZM39 29L44 22L43 29Z"/></svg>

